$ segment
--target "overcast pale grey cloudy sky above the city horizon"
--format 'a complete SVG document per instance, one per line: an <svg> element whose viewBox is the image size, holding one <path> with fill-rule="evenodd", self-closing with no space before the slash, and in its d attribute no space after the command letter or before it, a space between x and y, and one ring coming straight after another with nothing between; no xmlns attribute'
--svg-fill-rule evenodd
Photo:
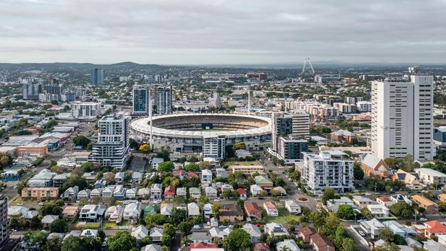
<svg viewBox="0 0 446 251"><path fill-rule="evenodd" d="M0 62L446 63L446 0L0 0Z"/></svg>

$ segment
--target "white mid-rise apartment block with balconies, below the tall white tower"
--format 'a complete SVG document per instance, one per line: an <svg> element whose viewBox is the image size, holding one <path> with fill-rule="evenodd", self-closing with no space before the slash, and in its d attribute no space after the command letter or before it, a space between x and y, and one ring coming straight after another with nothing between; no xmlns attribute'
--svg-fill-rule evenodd
<svg viewBox="0 0 446 251"><path fill-rule="evenodd" d="M304 153L301 174L305 184L313 191L331 187L340 192L352 191L353 160L340 151Z"/></svg>

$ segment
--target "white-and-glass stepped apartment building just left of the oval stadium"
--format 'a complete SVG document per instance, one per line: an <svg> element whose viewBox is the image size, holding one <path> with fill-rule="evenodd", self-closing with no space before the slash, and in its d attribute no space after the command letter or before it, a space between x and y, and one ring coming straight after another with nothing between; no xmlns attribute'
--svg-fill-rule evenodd
<svg viewBox="0 0 446 251"><path fill-rule="evenodd" d="M98 122L98 139L93 145L89 161L103 167L122 169L129 157L129 117L117 113L102 117Z"/></svg>

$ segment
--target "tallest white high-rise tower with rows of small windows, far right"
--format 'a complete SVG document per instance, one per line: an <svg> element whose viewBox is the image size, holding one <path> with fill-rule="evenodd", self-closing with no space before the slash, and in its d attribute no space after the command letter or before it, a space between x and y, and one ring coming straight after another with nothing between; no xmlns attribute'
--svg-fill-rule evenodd
<svg viewBox="0 0 446 251"><path fill-rule="evenodd" d="M378 158L432 160L433 76L372 82L372 152Z"/></svg>

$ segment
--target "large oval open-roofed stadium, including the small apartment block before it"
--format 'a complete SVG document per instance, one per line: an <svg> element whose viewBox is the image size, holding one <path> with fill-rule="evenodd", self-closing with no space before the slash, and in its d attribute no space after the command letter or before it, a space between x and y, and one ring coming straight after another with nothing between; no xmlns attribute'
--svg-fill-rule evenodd
<svg viewBox="0 0 446 251"><path fill-rule="evenodd" d="M222 158L224 147L244 142L249 150L263 150L270 140L271 119L232 114L180 114L152 118L154 148L165 145L171 152L203 152L204 157ZM130 123L133 136L150 139L150 118Z"/></svg>

